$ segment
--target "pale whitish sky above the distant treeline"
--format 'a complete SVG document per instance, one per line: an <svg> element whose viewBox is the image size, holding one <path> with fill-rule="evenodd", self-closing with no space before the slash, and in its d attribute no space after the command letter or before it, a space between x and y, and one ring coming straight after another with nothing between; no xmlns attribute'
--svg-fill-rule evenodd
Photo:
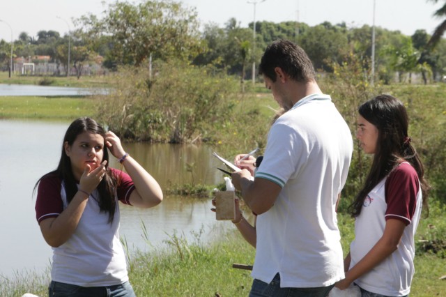
<svg viewBox="0 0 446 297"><path fill-rule="evenodd" d="M40 30L64 35L75 29L73 19L92 13L100 16L116 0L1 0L0 40L16 40L21 32L36 36ZM121 0L123 1L123 0ZM139 3L141 0L129 1ZM255 20L268 22L298 21L310 26L328 21L346 22L348 27L373 24L399 30L408 36L417 29L433 33L442 20L433 17L443 1L426 0L176 0L195 8L202 24L224 26L234 17L242 27ZM255 4L253 3L255 2ZM375 3L375 13L374 13ZM6 22L6 23L5 23Z"/></svg>

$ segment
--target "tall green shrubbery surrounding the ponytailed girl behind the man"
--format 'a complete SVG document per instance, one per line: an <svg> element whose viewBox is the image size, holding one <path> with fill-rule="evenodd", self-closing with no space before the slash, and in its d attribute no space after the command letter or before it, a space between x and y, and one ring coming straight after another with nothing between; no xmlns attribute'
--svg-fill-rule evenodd
<svg viewBox="0 0 446 297"><path fill-rule="evenodd" d="M367 66L354 55L346 57L344 63L334 66L332 76L322 80L322 89L332 95L333 102L351 128L353 139L356 133L357 107L362 102L380 93L389 93L403 102L408 110L409 136L424 164L425 178L431 184L429 197L435 197L446 204L446 100L443 94L445 84L410 85L394 84L371 86L368 82ZM369 171L371 156L364 155L357 142L343 190L344 201L340 211L344 211L356 195Z"/></svg>

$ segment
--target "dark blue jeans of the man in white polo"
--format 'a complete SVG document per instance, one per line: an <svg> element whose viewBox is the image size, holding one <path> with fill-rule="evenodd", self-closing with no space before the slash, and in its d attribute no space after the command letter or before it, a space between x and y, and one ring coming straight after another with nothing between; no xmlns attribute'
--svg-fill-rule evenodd
<svg viewBox="0 0 446 297"><path fill-rule="evenodd" d="M317 288L281 288L280 275L277 273L269 284L254 280L249 297L325 297L333 287L334 284Z"/></svg>

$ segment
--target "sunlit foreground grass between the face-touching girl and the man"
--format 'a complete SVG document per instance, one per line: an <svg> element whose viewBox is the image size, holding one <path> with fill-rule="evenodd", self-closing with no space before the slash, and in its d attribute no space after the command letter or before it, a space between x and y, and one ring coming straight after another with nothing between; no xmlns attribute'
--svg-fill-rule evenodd
<svg viewBox="0 0 446 297"><path fill-rule="evenodd" d="M206 247L171 236L170 250L140 254L130 279L137 296L247 296L250 271L232 264L252 264L254 249L240 236L226 234Z"/></svg>

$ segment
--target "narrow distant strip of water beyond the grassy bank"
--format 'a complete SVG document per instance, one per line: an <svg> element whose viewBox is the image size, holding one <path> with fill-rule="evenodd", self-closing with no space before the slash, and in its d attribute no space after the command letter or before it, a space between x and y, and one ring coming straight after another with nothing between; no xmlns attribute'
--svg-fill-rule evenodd
<svg viewBox="0 0 446 297"><path fill-rule="evenodd" d="M107 93L105 89L72 88L68 86L36 86L0 84L0 96L88 96Z"/></svg>

